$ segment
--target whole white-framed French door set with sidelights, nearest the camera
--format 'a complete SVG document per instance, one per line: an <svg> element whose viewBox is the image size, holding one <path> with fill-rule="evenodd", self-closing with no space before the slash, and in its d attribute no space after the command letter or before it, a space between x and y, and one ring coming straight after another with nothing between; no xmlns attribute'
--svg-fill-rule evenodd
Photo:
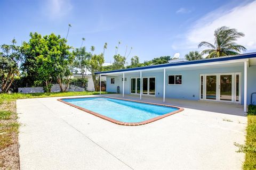
<svg viewBox="0 0 256 170"><path fill-rule="evenodd" d="M241 73L200 75L200 99L241 103Z"/></svg>

